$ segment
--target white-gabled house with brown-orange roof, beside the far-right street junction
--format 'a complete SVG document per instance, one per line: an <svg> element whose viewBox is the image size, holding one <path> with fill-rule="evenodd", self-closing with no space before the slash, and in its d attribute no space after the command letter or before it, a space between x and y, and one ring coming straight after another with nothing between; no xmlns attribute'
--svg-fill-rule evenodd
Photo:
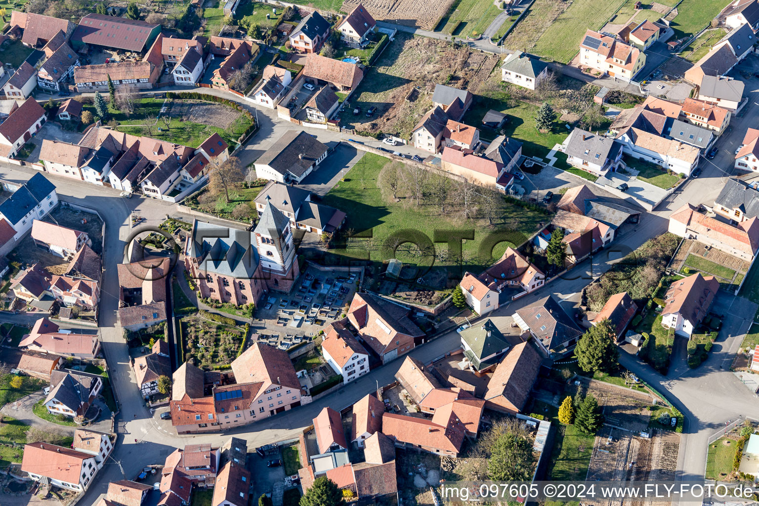
<svg viewBox="0 0 759 506"><path fill-rule="evenodd" d="M719 289L720 282L714 276L704 277L701 272L672 281L664 296L662 325L672 328L676 335L690 338L707 316Z"/></svg>

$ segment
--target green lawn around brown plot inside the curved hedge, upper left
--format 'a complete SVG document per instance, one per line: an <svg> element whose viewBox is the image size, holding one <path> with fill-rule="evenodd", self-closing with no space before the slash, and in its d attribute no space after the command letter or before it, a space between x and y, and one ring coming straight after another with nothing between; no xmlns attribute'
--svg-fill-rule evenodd
<svg viewBox="0 0 759 506"><path fill-rule="evenodd" d="M250 127L250 120L240 112L230 108L230 115L236 119L226 129L201 123L192 123L190 121L181 121L181 118L172 118L171 123L168 125L168 130L166 130L165 124L162 121L155 122L155 118L159 116L164 102L166 105L171 105L172 101L164 101L164 99L137 99L134 112L129 115L112 108L109 104L109 118L107 121L118 121L119 125L117 129L127 134L184 144L184 146L190 146L191 148L197 148L209 136L218 133L229 144L230 150L237 145L238 138L244 134L247 127ZM84 105L84 109L96 116L94 105ZM152 134L150 134L146 127L142 126L146 124L146 118L153 118ZM162 131L159 132L159 128Z"/></svg>

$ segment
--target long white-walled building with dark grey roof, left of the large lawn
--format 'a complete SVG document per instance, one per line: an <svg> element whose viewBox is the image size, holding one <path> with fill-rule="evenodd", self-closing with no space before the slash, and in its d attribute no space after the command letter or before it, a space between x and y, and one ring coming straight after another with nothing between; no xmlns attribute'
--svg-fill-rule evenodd
<svg viewBox="0 0 759 506"><path fill-rule="evenodd" d="M303 130L288 130L255 163L259 178L300 184L326 159L327 146Z"/></svg>

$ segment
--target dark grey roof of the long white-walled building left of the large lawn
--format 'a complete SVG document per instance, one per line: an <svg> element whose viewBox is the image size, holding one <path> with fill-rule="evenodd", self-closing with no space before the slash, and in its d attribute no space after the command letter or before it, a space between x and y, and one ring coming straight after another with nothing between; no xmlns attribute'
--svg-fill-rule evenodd
<svg viewBox="0 0 759 506"><path fill-rule="evenodd" d="M327 146L303 130L288 130L256 160L256 164L269 165L279 174L289 172L298 178L326 151Z"/></svg>

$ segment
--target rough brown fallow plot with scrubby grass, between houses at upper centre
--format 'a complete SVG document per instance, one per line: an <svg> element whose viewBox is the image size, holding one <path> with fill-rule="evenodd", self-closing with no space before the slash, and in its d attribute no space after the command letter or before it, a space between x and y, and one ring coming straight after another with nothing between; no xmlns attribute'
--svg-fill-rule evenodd
<svg viewBox="0 0 759 506"><path fill-rule="evenodd" d="M436 83L466 86L476 93L497 63L496 55L471 52L467 46L454 48L436 39L398 33L364 76L340 122L351 124L357 133L382 132L408 139L417 121L432 107ZM418 93L406 102L414 87ZM366 111L373 105L378 108L373 118L352 113L355 106Z"/></svg>

